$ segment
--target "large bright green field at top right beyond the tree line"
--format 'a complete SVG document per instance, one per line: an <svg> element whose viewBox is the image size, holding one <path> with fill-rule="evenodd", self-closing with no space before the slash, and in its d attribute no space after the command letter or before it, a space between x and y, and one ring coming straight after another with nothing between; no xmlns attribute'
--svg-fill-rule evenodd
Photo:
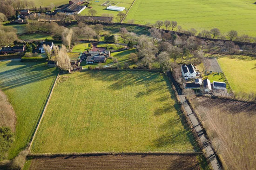
<svg viewBox="0 0 256 170"><path fill-rule="evenodd" d="M145 25L157 20L177 21L183 29L210 30L222 33L236 30L239 34L256 36L254 0L136 0L126 21L134 19Z"/></svg>

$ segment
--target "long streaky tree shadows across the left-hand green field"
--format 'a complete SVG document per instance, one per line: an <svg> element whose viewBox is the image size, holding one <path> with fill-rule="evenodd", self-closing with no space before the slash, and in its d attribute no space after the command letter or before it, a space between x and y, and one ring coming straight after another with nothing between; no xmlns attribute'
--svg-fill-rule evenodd
<svg viewBox="0 0 256 170"><path fill-rule="evenodd" d="M20 87L32 82L43 81L57 75L56 69L47 67L46 63L25 63L11 61L7 66L22 65L20 67L0 72L0 88L7 90Z"/></svg>

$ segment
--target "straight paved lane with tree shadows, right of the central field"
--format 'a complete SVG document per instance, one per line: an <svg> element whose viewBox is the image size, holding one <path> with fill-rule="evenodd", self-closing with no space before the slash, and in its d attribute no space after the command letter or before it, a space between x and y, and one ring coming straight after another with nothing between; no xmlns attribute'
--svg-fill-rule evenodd
<svg viewBox="0 0 256 170"><path fill-rule="evenodd" d="M202 142L203 149L205 150L206 155L210 160L213 170L221 170L221 167L216 158L216 155L215 155L214 151L212 150L211 145L209 145L209 141L205 137L206 135L202 131L202 127L200 126L198 120L196 119L195 114L192 112L191 107L189 106L189 103L186 100L185 95L182 95L181 89L178 87L173 76L171 75L171 73L169 71L167 72L167 76L171 79L171 81L173 82L173 84L178 92L178 97L182 103L182 106L185 108L187 116L189 117L189 120L191 121L192 126L195 129L195 132L197 133L200 141Z"/></svg>

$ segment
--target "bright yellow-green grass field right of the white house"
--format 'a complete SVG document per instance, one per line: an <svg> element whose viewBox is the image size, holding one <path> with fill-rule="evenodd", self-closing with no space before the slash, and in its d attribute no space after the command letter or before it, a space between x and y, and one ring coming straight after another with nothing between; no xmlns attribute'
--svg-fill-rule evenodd
<svg viewBox="0 0 256 170"><path fill-rule="evenodd" d="M237 56L233 59L220 57L218 63L234 92L256 93L256 59L254 57Z"/></svg>

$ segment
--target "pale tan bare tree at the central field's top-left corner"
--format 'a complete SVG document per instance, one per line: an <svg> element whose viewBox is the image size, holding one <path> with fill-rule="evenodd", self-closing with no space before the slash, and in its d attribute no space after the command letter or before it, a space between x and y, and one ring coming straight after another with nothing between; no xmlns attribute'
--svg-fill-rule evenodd
<svg viewBox="0 0 256 170"><path fill-rule="evenodd" d="M71 68L70 58L68 57L67 48L65 45L61 46L59 53L56 55L56 59L58 61L58 66L61 69L67 70Z"/></svg>

